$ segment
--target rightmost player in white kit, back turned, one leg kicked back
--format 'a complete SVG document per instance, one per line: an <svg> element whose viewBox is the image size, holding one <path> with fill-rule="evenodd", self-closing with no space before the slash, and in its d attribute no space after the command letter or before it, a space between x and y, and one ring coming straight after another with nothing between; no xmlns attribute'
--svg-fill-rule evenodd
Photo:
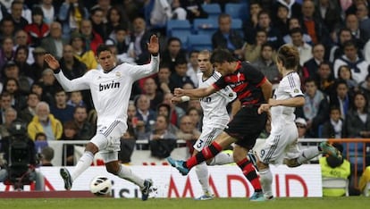
<svg viewBox="0 0 370 209"><path fill-rule="evenodd" d="M282 80L268 104L261 104L258 108L258 113L271 111L272 120L271 134L257 154L257 168L264 191L264 196L258 199L260 201L273 198L273 174L269 169L270 163L284 163L289 167L297 167L320 153L341 157L341 152L327 142L322 142L317 147L299 150L294 111L295 107L305 104L305 98L300 90L297 72L298 49L291 45L281 46L276 56L276 65L282 73Z"/></svg>

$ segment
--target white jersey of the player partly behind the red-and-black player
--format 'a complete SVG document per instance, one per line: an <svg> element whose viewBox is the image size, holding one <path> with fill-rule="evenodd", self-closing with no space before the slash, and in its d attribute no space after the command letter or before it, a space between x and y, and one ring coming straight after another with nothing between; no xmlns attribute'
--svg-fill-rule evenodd
<svg viewBox="0 0 370 209"><path fill-rule="evenodd" d="M212 76L206 80L203 79L203 73L198 73L199 88L207 88L220 79L221 74L214 71ZM224 129L229 122L229 113L226 105L236 98L236 93L230 87L223 88L210 96L200 98L200 105L203 109L203 125L213 128Z"/></svg>

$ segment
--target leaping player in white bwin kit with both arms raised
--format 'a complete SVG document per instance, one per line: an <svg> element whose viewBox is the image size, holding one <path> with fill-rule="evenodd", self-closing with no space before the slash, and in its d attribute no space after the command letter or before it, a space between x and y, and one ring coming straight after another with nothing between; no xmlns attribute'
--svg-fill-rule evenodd
<svg viewBox="0 0 370 209"><path fill-rule="evenodd" d="M71 189L73 180L76 180L83 171L86 171L93 162L94 155L100 152L106 171L129 180L141 189L141 199L147 200L152 180L143 180L134 174L129 167L118 162L120 138L127 130L127 108L130 100L132 83L156 73L159 69L159 43L153 35L147 43L147 51L152 54L150 63L131 65L122 63L117 65L113 52L108 46L97 48L97 59L102 70L91 70L77 79L67 79L60 69L60 64L51 54L45 55L45 61L55 72L55 78L66 91L90 89L94 106L97 110L97 133L88 142L85 153L80 157L74 170L66 168L60 170L64 180L64 188Z"/></svg>

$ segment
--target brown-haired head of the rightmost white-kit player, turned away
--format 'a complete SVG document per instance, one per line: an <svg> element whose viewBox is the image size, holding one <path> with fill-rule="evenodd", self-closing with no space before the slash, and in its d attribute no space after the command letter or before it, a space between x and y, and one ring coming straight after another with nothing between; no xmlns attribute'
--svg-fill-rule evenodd
<svg viewBox="0 0 370 209"><path fill-rule="evenodd" d="M292 45L283 45L279 48L276 56L276 64L279 71L282 69L297 71L299 65L299 51Z"/></svg>

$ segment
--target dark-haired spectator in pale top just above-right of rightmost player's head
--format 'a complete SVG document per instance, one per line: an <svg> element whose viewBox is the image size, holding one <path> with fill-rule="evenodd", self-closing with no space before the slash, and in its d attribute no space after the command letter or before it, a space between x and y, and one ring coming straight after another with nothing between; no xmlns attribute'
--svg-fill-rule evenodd
<svg viewBox="0 0 370 209"><path fill-rule="evenodd" d="M303 40L303 31L300 28L290 29L291 43L299 49L299 65L303 66L312 58L312 47Z"/></svg>

